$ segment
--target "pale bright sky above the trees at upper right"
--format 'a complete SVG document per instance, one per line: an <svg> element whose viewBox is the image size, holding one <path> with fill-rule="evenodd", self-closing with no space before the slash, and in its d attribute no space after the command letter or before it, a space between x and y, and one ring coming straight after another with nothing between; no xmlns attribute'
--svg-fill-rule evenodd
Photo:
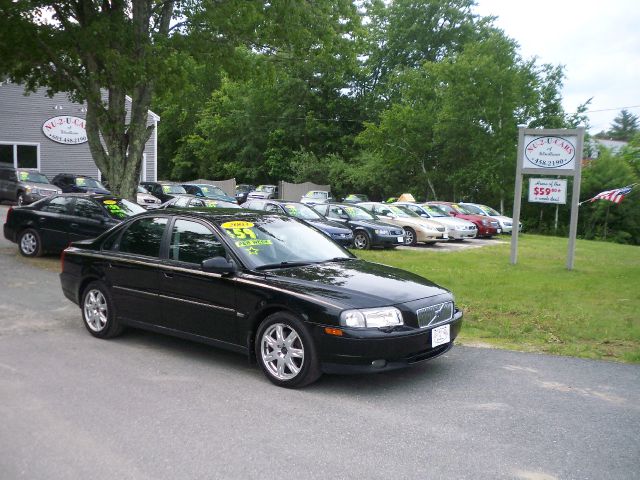
<svg viewBox="0 0 640 480"><path fill-rule="evenodd" d="M608 130L626 107L640 117L639 0L476 0L476 13L520 44L525 59L565 66L567 113L593 97L589 131ZM606 111L601 111L606 110Z"/></svg>

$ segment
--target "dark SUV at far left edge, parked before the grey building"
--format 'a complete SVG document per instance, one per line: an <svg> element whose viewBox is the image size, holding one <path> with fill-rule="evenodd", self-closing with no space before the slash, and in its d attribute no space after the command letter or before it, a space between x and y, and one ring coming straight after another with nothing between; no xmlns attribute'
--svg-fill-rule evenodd
<svg viewBox="0 0 640 480"><path fill-rule="evenodd" d="M61 190L37 170L0 166L0 200L27 205Z"/></svg>

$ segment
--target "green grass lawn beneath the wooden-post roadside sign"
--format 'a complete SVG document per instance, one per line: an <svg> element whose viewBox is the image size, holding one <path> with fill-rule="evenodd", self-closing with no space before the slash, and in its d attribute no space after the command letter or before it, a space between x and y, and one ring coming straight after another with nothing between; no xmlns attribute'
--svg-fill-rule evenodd
<svg viewBox="0 0 640 480"><path fill-rule="evenodd" d="M510 237L503 237L510 241ZM365 251L357 255L422 275L453 291L465 314L461 344L640 362L640 248L521 235L460 252Z"/></svg>

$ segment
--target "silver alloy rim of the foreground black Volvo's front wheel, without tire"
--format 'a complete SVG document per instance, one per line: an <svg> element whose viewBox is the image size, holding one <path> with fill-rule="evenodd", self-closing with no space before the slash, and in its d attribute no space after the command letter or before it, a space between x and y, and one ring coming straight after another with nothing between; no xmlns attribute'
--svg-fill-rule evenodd
<svg viewBox="0 0 640 480"><path fill-rule="evenodd" d="M267 371L278 380L295 378L304 365L304 345L290 325L275 323L260 340L260 354Z"/></svg>

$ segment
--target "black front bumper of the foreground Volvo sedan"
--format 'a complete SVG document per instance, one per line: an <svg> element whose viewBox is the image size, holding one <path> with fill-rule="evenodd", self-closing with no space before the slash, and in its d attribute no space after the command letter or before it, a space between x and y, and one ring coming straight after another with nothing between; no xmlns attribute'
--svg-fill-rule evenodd
<svg viewBox="0 0 640 480"><path fill-rule="evenodd" d="M408 367L447 352L462 328L461 311L455 313L449 325L450 341L433 348L433 328L391 333L350 329L347 335L338 337L324 333L324 327L318 326L314 335L323 372L374 373Z"/></svg>

